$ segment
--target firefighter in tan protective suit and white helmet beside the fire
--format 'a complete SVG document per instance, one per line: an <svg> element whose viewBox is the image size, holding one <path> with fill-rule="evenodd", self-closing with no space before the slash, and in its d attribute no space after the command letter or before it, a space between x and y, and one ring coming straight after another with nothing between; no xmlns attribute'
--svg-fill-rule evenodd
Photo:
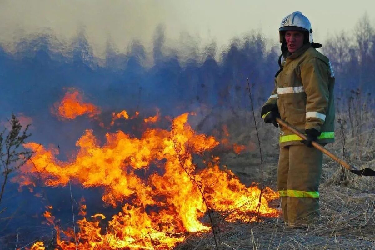
<svg viewBox="0 0 375 250"><path fill-rule="evenodd" d="M298 227L317 223L320 218L323 154L311 143L325 145L335 139L335 78L329 59L316 50L322 45L313 43L310 21L301 12L282 19L279 35L280 69L261 115L276 127L275 118L280 117L307 137L302 140L280 128L277 186L285 223Z"/></svg>

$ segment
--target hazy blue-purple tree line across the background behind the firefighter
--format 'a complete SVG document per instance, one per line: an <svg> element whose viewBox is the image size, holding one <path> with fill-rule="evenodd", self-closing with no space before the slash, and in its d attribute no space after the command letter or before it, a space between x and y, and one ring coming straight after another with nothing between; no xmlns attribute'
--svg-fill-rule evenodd
<svg viewBox="0 0 375 250"><path fill-rule="evenodd" d="M202 104L246 108L247 78L255 105L260 105L273 88L280 53L279 46L269 49L267 40L253 32L233 39L223 51L214 43L202 51L191 46L190 57L181 61L181 53L166 47L163 29L157 28L152 66L145 66L147 54L137 41L124 53L108 45L105 63L99 64L84 32L74 39L68 55L54 48L54 40L50 34L25 39L14 54L0 47L1 116L48 112L48 106L63 95L63 87L76 87L95 97L98 105L115 109L156 106L171 111ZM374 44L374 27L367 15L354 30L332 34L323 42L322 52L332 62L336 92L342 98L350 95L348 89L374 91Z"/></svg>

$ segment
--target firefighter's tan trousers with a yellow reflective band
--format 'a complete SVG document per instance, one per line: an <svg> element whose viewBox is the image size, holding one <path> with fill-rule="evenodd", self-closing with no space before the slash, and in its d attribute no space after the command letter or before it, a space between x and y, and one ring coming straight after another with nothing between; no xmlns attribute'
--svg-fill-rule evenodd
<svg viewBox="0 0 375 250"><path fill-rule="evenodd" d="M280 148L278 189L284 222L311 225L318 222L319 181L323 154L306 145Z"/></svg>

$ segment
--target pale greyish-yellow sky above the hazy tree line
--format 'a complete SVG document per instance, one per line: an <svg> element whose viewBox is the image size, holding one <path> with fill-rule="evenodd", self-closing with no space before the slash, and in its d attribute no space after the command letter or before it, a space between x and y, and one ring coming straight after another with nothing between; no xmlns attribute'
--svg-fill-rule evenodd
<svg viewBox="0 0 375 250"><path fill-rule="evenodd" d="M345 3L347 2L347 3ZM166 42L194 37L199 45L226 46L234 37L261 31L276 43L284 16L299 10L314 30L314 41L330 33L353 31L366 10L375 26L375 0L0 0L0 42L10 44L29 34L53 32L69 41L84 27L94 53L101 56L108 39L124 51L132 39L150 46L157 25Z"/></svg>

